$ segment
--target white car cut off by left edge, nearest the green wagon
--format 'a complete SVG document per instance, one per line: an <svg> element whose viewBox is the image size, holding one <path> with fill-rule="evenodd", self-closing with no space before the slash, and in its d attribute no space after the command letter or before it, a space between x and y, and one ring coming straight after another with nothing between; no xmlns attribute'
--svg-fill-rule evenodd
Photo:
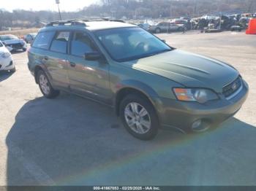
<svg viewBox="0 0 256 191"><path fill-rule="evenodd" d="M12 55L9 50L0 41L0 71L12 71L14 72L15 64L12 61Z"/></svg>

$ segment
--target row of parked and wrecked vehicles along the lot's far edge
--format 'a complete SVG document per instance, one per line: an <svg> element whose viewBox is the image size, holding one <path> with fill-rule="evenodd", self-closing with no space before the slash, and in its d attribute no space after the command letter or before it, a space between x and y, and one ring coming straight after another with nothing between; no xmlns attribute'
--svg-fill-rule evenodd
<svg viewBox="0 0 256 191"><path fill-rule="evenodd" d="M203 15L202 17L179 17L173 20L162 20L154 23L153 20L145 20L138 24L140 28L152 33L200 30L212 31L241 31L248 27L249 20L255 18L256 14L245 13L236 15Z"/></svg>

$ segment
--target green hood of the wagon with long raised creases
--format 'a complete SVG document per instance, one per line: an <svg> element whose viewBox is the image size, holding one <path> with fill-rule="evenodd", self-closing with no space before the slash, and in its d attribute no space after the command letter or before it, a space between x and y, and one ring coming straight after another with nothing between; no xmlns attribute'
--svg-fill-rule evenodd
<svg viewBox="0 0 256 191"><path fill-rule="evenodd" d="M129 64L134 69L157 74L186 87L206 87L217 93L222 93L222 87L239 75L227 63L181 50L142 58Z"/></svg>

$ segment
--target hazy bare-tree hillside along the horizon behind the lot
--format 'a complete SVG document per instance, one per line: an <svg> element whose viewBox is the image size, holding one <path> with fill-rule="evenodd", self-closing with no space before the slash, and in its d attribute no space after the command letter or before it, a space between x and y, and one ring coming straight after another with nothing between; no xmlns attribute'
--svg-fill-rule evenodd
<svg viewBox="0 0 256 191"><path fill-rule="evenodd" d="M61 6L61 4L60 4ZM159 17L198 17L206 14L256 12L255 0L101 0L77 12L61 12L63 19L115 17L145 19ZM59 20L58 12L0 9L0 29L31 27L39 21Z"/></svg>

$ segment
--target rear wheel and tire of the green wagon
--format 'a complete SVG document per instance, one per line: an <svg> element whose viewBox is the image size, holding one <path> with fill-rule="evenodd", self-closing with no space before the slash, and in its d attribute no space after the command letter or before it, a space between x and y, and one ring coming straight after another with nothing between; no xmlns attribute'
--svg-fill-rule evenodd
<svg viewBox="0 0 256 191"><path fill-rule="evenodd" d="M56 98L59 95L59 90L53 89L44 71L37 71L37 82L45 98Z"/></svg>

